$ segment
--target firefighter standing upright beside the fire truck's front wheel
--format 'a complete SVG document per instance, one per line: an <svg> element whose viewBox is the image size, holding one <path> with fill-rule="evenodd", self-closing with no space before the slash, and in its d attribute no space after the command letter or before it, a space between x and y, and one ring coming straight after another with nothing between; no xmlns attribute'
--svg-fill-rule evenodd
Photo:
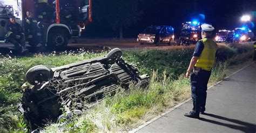
<svg viewBox="0 0 256 133"><path fill-rule="evenodd" d="M33 18L33 14L30 11L26 12L25 18L25 33L28 35L26 36L29 45L31 46L31 52L35 52L37 49L37 45L41 43L41 32L39 28L42 28L41 22L38 22L35 18Z"/></svg>

